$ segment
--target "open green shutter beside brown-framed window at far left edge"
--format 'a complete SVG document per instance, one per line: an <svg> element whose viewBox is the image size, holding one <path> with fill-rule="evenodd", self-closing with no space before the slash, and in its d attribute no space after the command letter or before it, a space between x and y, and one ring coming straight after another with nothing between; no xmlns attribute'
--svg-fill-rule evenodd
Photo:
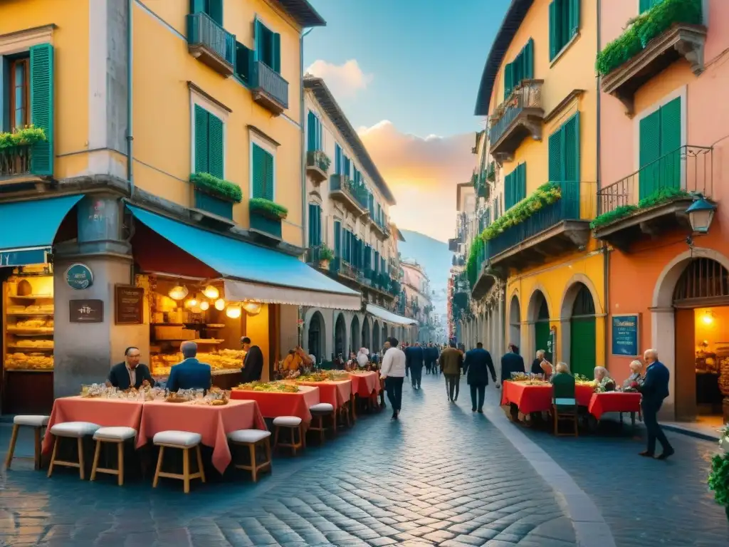
<svg viewBox="0 0 729 547"><path fill-rule="evenodd" d="M41 128L46 140L33 145L31 172L36 175L53 174L53 46L31 46L31 123Z"/></svg>

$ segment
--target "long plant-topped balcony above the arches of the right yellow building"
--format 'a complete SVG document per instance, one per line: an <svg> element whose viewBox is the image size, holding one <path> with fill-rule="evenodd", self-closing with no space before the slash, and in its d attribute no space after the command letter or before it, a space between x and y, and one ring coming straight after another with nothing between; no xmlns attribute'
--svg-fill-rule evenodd
<svg viewBox="0 0 729 547"><path fill-rule="evenodd" d="M491 268L503 276L550 257L583 249L596 213L596 183L561 181L561 198L488 241ZM507 213L508 214L508 213Z"/></svg>

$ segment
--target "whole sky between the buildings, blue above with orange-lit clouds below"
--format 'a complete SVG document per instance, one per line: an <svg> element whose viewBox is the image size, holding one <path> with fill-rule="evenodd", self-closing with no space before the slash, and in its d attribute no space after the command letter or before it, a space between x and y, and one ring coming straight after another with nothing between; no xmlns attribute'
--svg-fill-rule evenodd
<svg viewBox="0 0 729 547"><path fill-rule="evenodd" d="M304 39L322 77L397 198L400 228L455 231L471 176L483 64L510 0L310 0L327 20Z"/></svg>

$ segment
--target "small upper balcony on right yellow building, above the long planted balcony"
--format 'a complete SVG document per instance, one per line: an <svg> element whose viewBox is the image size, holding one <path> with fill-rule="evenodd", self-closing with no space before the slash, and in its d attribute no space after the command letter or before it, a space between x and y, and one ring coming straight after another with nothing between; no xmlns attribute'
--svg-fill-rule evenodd
<svg viewBox="0 0 729 547"><path fill-rule="evenodd" d="M521 141L531 136L542 139L542 121L545 111L542 106L542 79L523 79L506 98L496 106L489 118L491 129L488 141L491 155L499 162L511 160Z"/></svg>

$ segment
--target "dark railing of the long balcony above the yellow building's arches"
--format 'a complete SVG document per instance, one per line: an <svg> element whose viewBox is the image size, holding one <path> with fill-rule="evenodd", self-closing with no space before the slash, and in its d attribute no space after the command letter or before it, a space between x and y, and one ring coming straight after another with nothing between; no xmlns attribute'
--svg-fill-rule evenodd
<svg viewBox="0 0 729 547"><path fill-rule="evenodd" d="M488 242L488 257L493 258L503 252L522 245L529 247L529 238L537 236L566 220L590 221L596 213L596 183L562 181L559 182L561 198L513 225Z"/></svg>

